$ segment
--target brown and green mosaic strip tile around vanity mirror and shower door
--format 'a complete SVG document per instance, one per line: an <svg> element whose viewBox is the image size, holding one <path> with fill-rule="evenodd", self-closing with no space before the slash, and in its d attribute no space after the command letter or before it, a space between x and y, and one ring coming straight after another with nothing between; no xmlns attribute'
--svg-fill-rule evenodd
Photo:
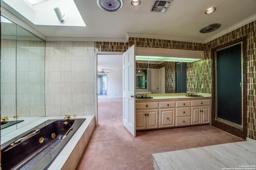
<svg viewBox="0 0 256 170"><path fill-rule="evenodd" d="M204 51L203 60L187 64L187 91L212 93L212 89L215 87L212 84L212 49L242 37L246 37L246 70L244 70L246 73L246 79L244 80L244 82L246 82L246 96L244 96L244 98L246 98L246 102L244 102L244 107L246 107L246 115L244 115L244 127L246 130L242 130L242 133L240 133L240 130L237 128L220 121L218 121L218 123L215 125L224 131L244 139L245 137L248 137L256 140L256 92L254 90L254 86L256 85L256 21L252 21L251 23L248 23L205 44L130 37L128 43L95 42L95 51L124 52L128 49L128 47L134 44L136 47ZM215 117L213 115L212 120L214 119Z"/></svg>

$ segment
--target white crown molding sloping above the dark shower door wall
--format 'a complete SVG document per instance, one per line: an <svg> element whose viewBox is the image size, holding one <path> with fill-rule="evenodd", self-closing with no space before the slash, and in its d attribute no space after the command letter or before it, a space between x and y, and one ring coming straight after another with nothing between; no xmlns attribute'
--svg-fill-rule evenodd
<svg viewBox="0 0 256 170"><path fill-rule="evenodd" d="M256 20L256 14L254 14L253 16L250 16L249 18L246 18L245 20L242 20L238 23L236 23L235 25L231 26L231 27L228 27L227 29L224 29L223 31L220 31L219 33L216 33L215 35L205 39L205 42L204 43L208 43L222 35L225 35L226 33L229 33L231 31L234 31L235 29L238 29L252 21L255 21Z"/></svg>

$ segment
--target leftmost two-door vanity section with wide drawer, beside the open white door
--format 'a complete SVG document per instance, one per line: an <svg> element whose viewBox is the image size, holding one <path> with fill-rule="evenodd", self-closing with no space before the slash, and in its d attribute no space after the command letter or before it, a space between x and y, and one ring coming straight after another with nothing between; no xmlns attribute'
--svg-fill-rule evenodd
<svg viewBox="0 0 256 170"><path fill-rule="evenodd" d="M158 128L158 102L136 103L136 130Z"/></svg>

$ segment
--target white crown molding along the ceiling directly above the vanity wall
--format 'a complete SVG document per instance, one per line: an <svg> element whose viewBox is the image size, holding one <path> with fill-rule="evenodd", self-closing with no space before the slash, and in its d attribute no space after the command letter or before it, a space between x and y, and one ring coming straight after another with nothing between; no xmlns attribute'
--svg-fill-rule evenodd
<svg viewBox="0 0 256 170"><path fill-rule="evenodd" d="M191 43L204 43L203 39L191 39L191 38L184 38L184 37L168 37L163 35L149 35L149 34L137 34L137 33L127 33L127 35L129 37L136 37L136 38L166 39L166 40L184 41L184 42L191 42Z"/></svg>

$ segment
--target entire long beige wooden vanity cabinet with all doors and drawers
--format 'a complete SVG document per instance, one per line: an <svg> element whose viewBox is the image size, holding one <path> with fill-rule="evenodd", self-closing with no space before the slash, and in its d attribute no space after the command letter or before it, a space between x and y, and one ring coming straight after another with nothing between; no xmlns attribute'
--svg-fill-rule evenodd
<svg viewBox="0 0 256 170"><path fill-rule="evenodd" d="M209 98L153 101L136 102L136 130L210 123L211 99Z"/></svg>

